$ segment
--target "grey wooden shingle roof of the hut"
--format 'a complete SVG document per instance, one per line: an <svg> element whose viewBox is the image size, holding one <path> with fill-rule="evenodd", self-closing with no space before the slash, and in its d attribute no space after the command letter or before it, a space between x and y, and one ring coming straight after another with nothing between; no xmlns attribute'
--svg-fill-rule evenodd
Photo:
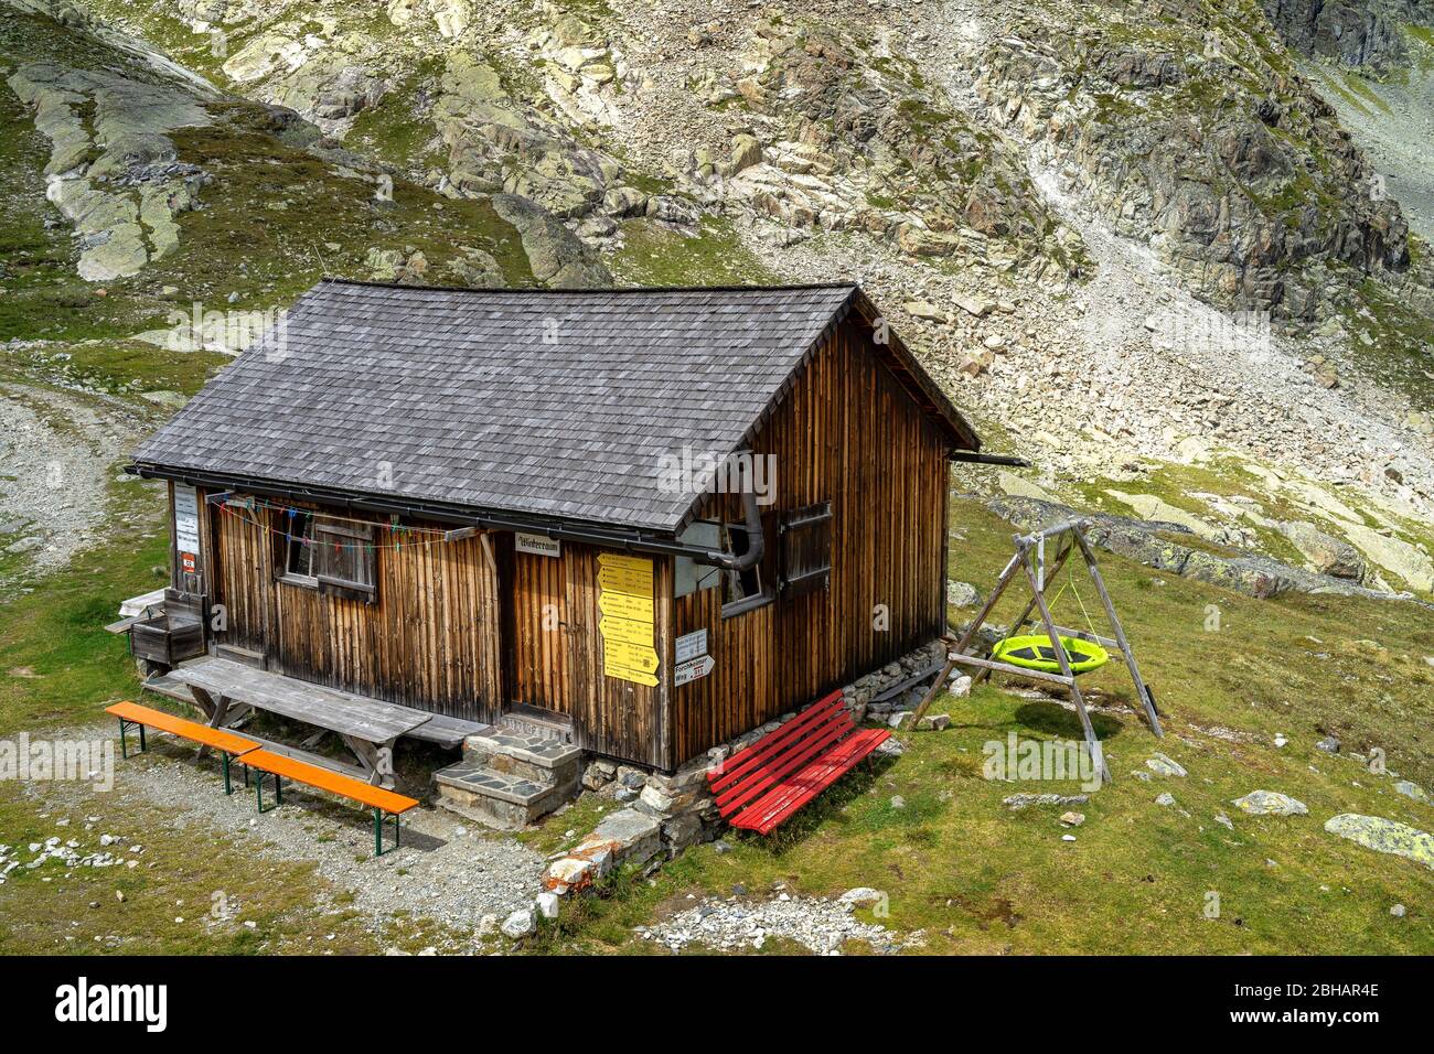
<svg viewBox="0 0 1434 1054"><path fill-rule="evenodd" d="M670 532L661 457L736 449L853 294L326 280L135 460Z"/></svg>

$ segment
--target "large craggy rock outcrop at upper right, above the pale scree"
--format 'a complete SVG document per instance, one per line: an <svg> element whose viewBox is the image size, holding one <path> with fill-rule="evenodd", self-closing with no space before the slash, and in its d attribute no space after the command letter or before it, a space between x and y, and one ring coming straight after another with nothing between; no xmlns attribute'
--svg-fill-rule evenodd
<svg viewBox="0 0 1434 1054"><path fill-rule="evenodd" d="M1311 318L1331 265L1405 271L1398 204L1288 59L1252 34L1184 36L1031 24L987 49L978 90L1212 303Z"/></svg>

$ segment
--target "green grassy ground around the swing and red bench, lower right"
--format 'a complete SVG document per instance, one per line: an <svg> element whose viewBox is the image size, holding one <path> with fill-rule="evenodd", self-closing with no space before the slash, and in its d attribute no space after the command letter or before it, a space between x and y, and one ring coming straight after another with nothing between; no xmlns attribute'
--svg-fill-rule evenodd
<svg viewBox="0 0 1434 1054"><path fill-rule="evenodd" d="M1010 529L967 503L954 521L965 538L954 541L952 575L992 582ZM627 878L619 895L566 916L545 946L652 951L631 928L691 906L690 893L730 896L740 886L744 896L764 899L782 883L793 896L886 891L891 916L879 921L926 931L928 952L1434 951L1427 906L1434 872L1322 830L1339 812L1427 830L1434 809L1394 793L1391 776L1314 747L1332 731L1345 751L1381 747L1391 770L1430 782L1434 670L1423 657L1434 654L1434 615L1336 598L1256 601L1154 576L1114 556L1103 559L1103 571L1159 693L1167 734L1157 741L1136 716L1097 714L1116 782L1074 806L1087 816L1083 826L1061 827L1061 809L1012 813L1001 804L1017 792L1078 793L1073 782L982 777L987 741L1012 731L1078 739L1076 716L984 685L971 700L938 701L935 710L952 716L951 728L908 736L905 756L875 774L853 774L777 836L730 835L728 853L703 846L651 883ZM1084 598L1091 607L1093 591ZM1068 595L1067 605L1065 617L1078 624ZM1212 605L1220 628L1207 631ZM1002 607L998 619L1014 617L1015 601ZM1083 687L1103 706L1133 701L1123 670L1106 667ZM1272 743L1276 731L1291 739L1283 749ZM1180 761L1189 777L1133 777L1154 750ZM1289 793L1311 815L1253 817L1230 804L1256 789ZM1154 804L1163 790L1176 806ZM905 807L892 806L896 796ZM581 819L604 806L614 807L585 796ZM1217 825L1216 813L1235 830ZM533 837L555 850L564 845L556 832L566 829L584 826L565 815ZM1063 842L1064 833L1077 840ZM1220 908L1213 919L1206 918L1210 893ZM1391 916L1394 903L1404 903L1408 916Z"/></svg>

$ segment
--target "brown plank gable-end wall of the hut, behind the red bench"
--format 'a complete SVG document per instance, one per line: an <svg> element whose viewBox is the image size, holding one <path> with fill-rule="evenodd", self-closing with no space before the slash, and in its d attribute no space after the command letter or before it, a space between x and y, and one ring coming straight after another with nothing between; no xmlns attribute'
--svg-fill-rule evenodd
<svg viewBox="0 0 1434 1054"><path fill-rule="evenodd" d="M763 581L776 584L782 511L832 502L829 591L721 617L721 591L674 601L673 635L708 630L716 667L671 685L668 767L891 663L945 628L948 440L850 323L837 328L753 442L776 455ZM736 496L703 518L740 522ZM889 627L875 628L876 605Z"/></svg>

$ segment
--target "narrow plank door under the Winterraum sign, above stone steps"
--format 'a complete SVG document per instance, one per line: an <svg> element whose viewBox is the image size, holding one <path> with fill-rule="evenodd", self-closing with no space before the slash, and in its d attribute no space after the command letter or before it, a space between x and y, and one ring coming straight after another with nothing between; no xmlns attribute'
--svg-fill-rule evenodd
<svg viewBox="0 0 1434 1054"><path fill-rule="evenodd" d="M572 714L568 556L513 554L513 703Z"/></svg>

